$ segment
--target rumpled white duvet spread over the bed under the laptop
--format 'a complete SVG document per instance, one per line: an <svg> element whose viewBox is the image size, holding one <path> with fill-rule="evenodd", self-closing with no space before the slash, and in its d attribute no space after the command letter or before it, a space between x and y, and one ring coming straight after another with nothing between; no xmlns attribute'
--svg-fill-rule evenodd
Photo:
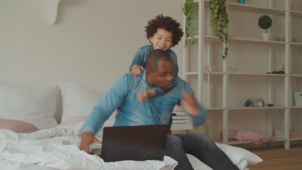
<svg viewBox="0 0 302 170"><path fill-rule="evenodd" d="M173 170L177 162L170 157L161 161L121 161L105 163L96 155L88 155L78 149L83 122L56 127L33 133L15 133L0 129L0 167L4 170ZM106 124L104 125L106 126ZM96 134L101 140L102 129ZM237 165L244 170L244 157L232 156L233 152L218 145ZM193 156L192 156L193 157ZM189 157L190 158L190 157ZM190 161L194 169L205 168L199 160ZM195 158L196 159L196 158ZM201 163L201 164L198 164ZM243 164L242 164L243 163ZM241 165L239 165L241 164ZM202 166L202 167L200 167ZM75 168L76 167L76 168ZM203 169L203 170L208 170ZM211 170L211 169L209 169Z"/></svg>

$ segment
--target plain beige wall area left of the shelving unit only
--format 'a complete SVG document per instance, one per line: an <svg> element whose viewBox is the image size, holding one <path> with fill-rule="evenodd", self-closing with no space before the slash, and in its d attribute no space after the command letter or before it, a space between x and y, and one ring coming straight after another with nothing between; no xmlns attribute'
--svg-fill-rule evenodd
<svg viewBox="0 0 302 170"><path fill-rule="evenodd" d="M55 25L47 0L0 0L0 80L105 91L149 44L145 26L158 14L182 24L182 0L62 0ZM182 72L182 42L173 49Z"/></svg>

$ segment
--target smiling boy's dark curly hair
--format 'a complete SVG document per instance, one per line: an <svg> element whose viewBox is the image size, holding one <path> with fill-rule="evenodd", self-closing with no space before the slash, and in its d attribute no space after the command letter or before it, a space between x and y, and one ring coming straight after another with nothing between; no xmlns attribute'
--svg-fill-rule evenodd
<svg viewBox="0 0 302 170"><path fill-rule="evenodd" d="M177 45L181 37L183 36L182 29L180 28L180 23L170 16L163 16L162 14L157 15L154 19L149 20L148 25L145 28L145 31L147 33L146 37L148 39L156 33L157 28L163 28L166 31L172 32L173 40L171 47Z"/></svg>

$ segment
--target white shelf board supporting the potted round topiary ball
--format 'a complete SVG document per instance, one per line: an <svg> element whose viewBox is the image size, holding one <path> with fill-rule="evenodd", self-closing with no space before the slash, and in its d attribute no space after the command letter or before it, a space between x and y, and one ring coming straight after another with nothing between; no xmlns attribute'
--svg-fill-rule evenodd
<svg viewBox="0 0 302 170"><path fill-rule="evenodd" d="M205 40L210 42L222 42L218 37L215 36L204 36ZM265 41L257 38L247 38L247 37L236 37L230 36L229 41L230 43L239 43L239 44L256 44L256 45L275 45L275 46L282 46L285 45L286 42L284 41Z"/></svg>

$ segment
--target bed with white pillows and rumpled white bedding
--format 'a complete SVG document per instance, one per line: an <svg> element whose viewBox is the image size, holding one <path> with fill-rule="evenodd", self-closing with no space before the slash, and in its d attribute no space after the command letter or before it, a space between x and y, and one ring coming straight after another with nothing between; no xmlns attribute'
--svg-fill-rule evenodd
<svg viewBox="0 0 302 170"><path fill-rule="evenodd" d="M10 128L6 129L1 127L5 123L0 125L1 169L173 170L177 165L169 157L164 157L163 161L105 163L96 155L80 151L80 131L92 106L102 95L99 92L68 82L60 82L53 87L0 82L0 94L0 120L17 122L9 123ZM114 118L115 114L112 114L97 132L98 139L101 140L104 127L113 125ZM24 122L24 126L20 122ZM247 170L248 164L262 162L261 158L247 150L217 145L240 170ZM99 147L93 144L90 149ZM195 170L212 170L194 156L187 156Z"/></svg>

